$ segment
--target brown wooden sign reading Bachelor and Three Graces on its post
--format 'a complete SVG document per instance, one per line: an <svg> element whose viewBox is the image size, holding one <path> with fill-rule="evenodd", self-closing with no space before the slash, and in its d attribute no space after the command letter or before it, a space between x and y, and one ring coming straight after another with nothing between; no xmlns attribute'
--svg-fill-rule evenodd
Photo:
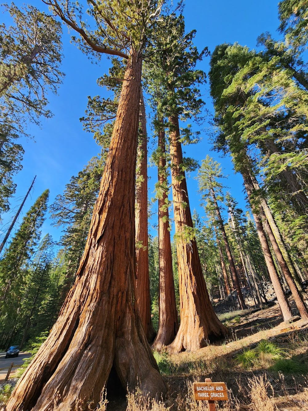
<svg viewBox="0 0 308 411"><path fill-rule="evenodd" d="M196 401L208 401L209 411L216 411L215 401L227 401L227 387L225 383L212 383L210 378L205 383L193 383Z"/></svg>

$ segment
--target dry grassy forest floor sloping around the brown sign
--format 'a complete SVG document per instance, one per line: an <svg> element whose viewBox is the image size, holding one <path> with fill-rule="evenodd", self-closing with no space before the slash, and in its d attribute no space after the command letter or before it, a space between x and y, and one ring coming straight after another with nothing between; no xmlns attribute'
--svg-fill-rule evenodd
<svg viewBox="0 0 308 411"><path fill-rule="evenodd" d="M257 312L219 315L230 335L195 353L154 353L168 386L163 402L149 406L136 393L126 400L109 398L107 411L201 411L207 401L195 402L192 383L211 378L225 382L224 411L308 411L308 323L283 322L278 304ZM107 393L108 397L108 393Z"/></svg>

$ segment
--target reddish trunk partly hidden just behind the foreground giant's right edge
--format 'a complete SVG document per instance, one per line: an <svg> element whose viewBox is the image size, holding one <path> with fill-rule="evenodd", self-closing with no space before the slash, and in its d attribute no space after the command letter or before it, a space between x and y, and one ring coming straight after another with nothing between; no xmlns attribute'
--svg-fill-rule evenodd
<svg viewBox="0 0 308 411"><path fill-rule="evenodd" d="M143 93L140 95L139 139L136 174L136 300L148 342L156 336L151 319L149 247L147 233L147 121Z"/></svg>

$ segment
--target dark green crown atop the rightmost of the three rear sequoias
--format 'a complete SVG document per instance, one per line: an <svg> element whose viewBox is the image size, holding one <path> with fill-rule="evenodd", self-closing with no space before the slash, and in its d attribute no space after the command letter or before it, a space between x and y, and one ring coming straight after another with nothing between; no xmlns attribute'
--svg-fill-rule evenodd
<svg viewBox="0 0 308 411"><path fill-rule="evenodd" d="M185 34L184 17L175 13L162 18L153 33L146 80L152 105L161 117L181 116L186 120L201 113L204 102L198 86L205 82L205 73L195 66L207 55L207 49L199 53L193 46L194 36L194 30ZM191 127L182 131L182 142L190 141Z"/></svg>

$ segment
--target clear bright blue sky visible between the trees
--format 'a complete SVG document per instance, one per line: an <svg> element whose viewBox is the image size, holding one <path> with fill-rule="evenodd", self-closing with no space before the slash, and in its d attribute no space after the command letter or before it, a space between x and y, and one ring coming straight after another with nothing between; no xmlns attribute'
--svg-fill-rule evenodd
<svg viewBox="0 0 308 411"><path fill-rule="evenodd" d="M82 0L80 0L82 2ZM16 0L15 4L21 6L24 2ZM46 10L46 6L40 0L29 0L30 3L41 10ZM278 27L278 0L186 0L184 16L186 30L197 30L195 45L201 50L205 46L210 51L214 51L217 44L223 42L238 42L250 48L255 48L257 36L262 32L269 31L274 37L278 37L276 29ZM2 22L7 25L10 18L7 14L2 14ZM23 210L23 214L30 208L34 200L45 189L50 189L50 203L53 203L55 196L61 194L65 185L72 175L76 175L83 166L94 155L99 152L99 147L94 142L92 135L83 131L79 118L83 116L88 95L97 95L102 92L96 85L96 80L105 72L108 72L109 61L102 57L99 65L94 65L87 59L76 46L70 44L70 35L66 26L63 26L63 54L64 60L62 71L65 72L63 84L58 95L49 96L49 109L54 116L51 119L42 120L42 127L29 127L28 132L34 136L34 140L23 140L21 143L25 149L23 159L23 169L16 175L17 183L16 196L11 199L11 212L5 216L4 223L7 224L14 212L14 207L21 203L21 197L25 195L30 183L37 175L34 189L29 196ZM199 68L208 71L209 58L200 63ZM204 90L206 107L213 111L211 99L207 86ZM186 155L194 157L199 162L207 154L221 162L225 173L229 175L226 180L231 194L236 197L241 207L244 207L244 195L242 193L242 178L234 175L232 164L228 158L219 158L215 152L211 152L211 145L208 142L207 123L202 128L202 141L198 145L186 147ZM196 129L196 128L195 128ZM150 132L150 127L148 126ZM149 176L149 196L153 197L154 184L156 182L157 171L154 167L148 170ZM200 209L200 195L197 181L193 178L195 173L191 173L188 178L188 195L191 209L196 208L200 215L204 212ZM153 211L156 210L156 205ZM19 219L21 221L21 218ZM153 221L154 224L156 220ZM61 235L61 229L51 227L47 218L44 223L42 234L50 233L55 240ZM155 232L152 232L155 235Z"/></svg>

